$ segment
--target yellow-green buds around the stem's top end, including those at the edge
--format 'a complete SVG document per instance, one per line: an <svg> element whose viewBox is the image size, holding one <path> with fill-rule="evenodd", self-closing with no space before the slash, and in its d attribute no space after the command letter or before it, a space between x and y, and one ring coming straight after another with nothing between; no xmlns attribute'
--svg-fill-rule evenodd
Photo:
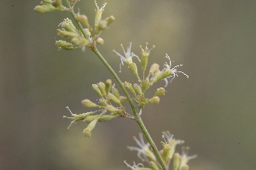
<svg viewBox="0 0 256 170"><path fill-rule="evenodd" d="M36 6L35 10L39 13L46 13L51 11L73 11L73 6L78 3L79 0L69 0L69 5L71 8L64 7L61 0L44 0L42 5ZM95 0L96 3L96 0ZM102 7L99 8L96 3L96 16L94 26L90 26L88 18L84 14L74 14L74 19L79 25L79 30L73 25L73 21L70 19L64 19L59 26L61 29L57 29L58 35L61 37L67 37L70 42L64 40L57 40L55 44L60 49L71 50L74 48L95 48L96 43L102 45L104 40L99 37L102 31L104 31L108 26L110 26L115 18L111 15L105 20L102 20L102 12L104 11L107 3L103 3ZM83 26L85 28L83 28Z"/></svg>

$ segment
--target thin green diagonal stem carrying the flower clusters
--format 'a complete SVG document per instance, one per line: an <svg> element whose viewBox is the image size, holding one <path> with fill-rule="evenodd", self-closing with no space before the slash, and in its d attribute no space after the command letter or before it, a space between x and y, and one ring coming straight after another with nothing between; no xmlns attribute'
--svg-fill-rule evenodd
<svg viewBox="0 0 256 170"><path fill-rule="evenodd" d="M65 0L66 3L67 3L67 7L70 8L70 13L72 14L73 16L73 19L75 20L75 14L73 12L73 8L71 8L71 5L69 3L68 0ZM85 34L84 32L84 29L83 29L83 26L81 26L81 24L79 23L79 21L75 20L77 25L79 26L79 30L82 31L84 37L87 37L87 35ZM147 128L145 127L144 123L143 123L143 120L141 118L141 116L138 115L138 112L136 111L136 108L135 106L133 105L132 101L131 101L131 97L130 95L128 94L128 92L126 91L123 83L121 82L121 80L119 79L118 75L115 73L115 71L113 71L112 67L110 65L108 65L108 62L106 59L103 58L102 54L100 54L100 52L97 50L96 46L94 45L93 48L91 48L91 50L98 56L99 59L102 60L102 63L104 65L106 65L106 67L108 68L108 71L110 71L110 73L113 75L113 77L115 78L115 80L119 83L119 86L120 88L122 88L122 91L125 93L125 96L126 98L128 99L129 101L129 104L131 105L131 109L134 113L134 116L136 117L136 121L139 125L139 127L141 127L146 139L148 140L148 143L150 144L152 150L154 151L154 155L157 157L158 161L160 161L160 165L161 167L163 168L163 170L167 170L166 168L166 164L165 162L163 161L162 157L160 156L160 152L158 151L156 145L154 144L154 141L153 139L151 138L150 134L148 133L148 130Z"/></svg>

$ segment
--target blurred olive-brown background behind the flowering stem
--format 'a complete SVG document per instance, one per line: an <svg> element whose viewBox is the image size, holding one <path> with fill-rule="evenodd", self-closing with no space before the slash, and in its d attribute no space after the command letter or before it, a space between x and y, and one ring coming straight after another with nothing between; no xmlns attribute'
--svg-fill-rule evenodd
<svg viewBox="0 0 256 170"><path fill-rule="evenodd" d="M9 0L0 6L0 169L112 170L129 169L125 160L142 162L126 148L137 145L132 136L141 132L130 119L97 123L90 139L82 133L84 122L67 130L65 107L76 114L93 111L80 101L96 102L91 84L113 77L88 49L57 50L56 29L71 15L38 14L33 8L39 3ZM92 25L94 1L78 8ZM143 110L157 146L169 130L190 146L189 156L198 155L189 161L191 170L255 169L256 1L109 0L102 18L110 15L116 21L103 31L105 44L98 48L115 71L120 59L113 49L122 54L120 43L133 42L139 55L148 42L156 46L148 65L163 65L167 53L189 75L176 77L160 104ZM137 82L127 67L119 77ZM158 82L148 97L164 85Z"/></svg>

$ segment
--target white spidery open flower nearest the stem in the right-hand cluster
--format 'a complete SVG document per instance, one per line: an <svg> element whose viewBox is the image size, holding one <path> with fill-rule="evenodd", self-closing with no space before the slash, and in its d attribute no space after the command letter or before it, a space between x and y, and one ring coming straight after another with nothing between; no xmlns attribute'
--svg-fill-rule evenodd
<svg viewBox="0 0 256 170"><path fill-rule="evenodd" d="M125 52L125 48L123 47L123 44L121 44L121 47L123 48L123 51L125 53L125 57L121 54L119 54L118 52L116 52L114 49L113 49L113 52L116 53L117 55L119 55L120 59L121 59L121 63L120 63L120 71L121 72L121 65L124 65L124 62L130 66L133 62L132 62L132 57L137 57L137 59L139 61L141 61L138 56L136 54L133 54L131 52L131 42L130 42L130 47L127 48L127 52Z"/></svg>

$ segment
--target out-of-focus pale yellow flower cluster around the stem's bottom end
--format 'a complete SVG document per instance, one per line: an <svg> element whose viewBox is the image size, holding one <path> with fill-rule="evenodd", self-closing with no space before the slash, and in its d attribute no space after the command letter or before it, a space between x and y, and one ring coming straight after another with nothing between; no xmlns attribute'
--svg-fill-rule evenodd
<svg viewBox="0 0 256 170"><path fill-rule="evenodd" d="M139 134L139 139L133 137L136 143L140 146L128 146L129 150L137 151L137 156L142 160L148 162L149 167L144 167L142 163L135 164L130 166L126 163L127 167L131 167L131 169L147 169L147 170L160 170L160 163L157 161L156 157L154 156L153 151L150 149L149 144L144 142L143 134ZM189 147L182 147L182 154L175 153L176 145L183 144L184 141L180 139L174 139L173 135L170 132L163 132L163 139L165 142L162 142L163 149L160 150L160 156L164 160L166 164L166 168L169 169L172 167L173 170L189 170L188 161L194 159L195 156L188 156ZM172 166L171 166L172 161Z"/></svg>

